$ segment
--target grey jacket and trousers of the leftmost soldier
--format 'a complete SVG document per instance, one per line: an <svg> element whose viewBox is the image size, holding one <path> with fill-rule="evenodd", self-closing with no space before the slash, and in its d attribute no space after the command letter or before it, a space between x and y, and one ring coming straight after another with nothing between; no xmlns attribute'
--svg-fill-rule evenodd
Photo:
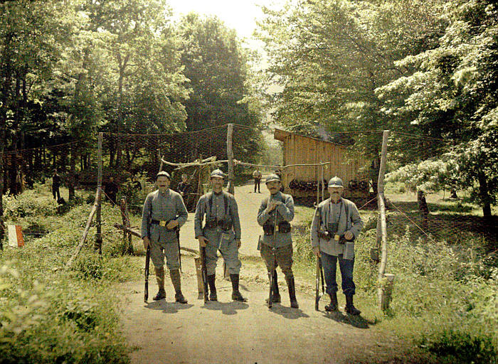
<svg viewBox="0 0 498 364"><path fill-rule="evenodd" d="M171 189L165 193L156 190L149 193L144 203L142 212L142 239L149 235L151 242L150 252L154 267L166 267L168 269L179 269L178 239L175 230L167 230L166 226L152 224L152 220L170 221L177 220L178 228L181 228L187 220L187 210L181 195Z"/></svg>

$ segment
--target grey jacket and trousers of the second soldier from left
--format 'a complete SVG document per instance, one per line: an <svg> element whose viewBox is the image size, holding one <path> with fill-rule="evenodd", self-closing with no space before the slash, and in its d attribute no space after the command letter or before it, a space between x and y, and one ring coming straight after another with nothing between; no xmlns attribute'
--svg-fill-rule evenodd
<svg viewBox="0 0 498 364"><path fill-rule="evenodd" d="M227 210L225 210L225 205ZM223 230L220 225L213 228L202 226L203 220L221 221L231 220L231 228ZM240 259L238 258L238 242L240 240L240 220L238 217L238 206L231 193L209 192L199 198L196 215L194 218L194 228L196 239L200 236L208 240L206 245L206 268L208 275L215 274L216 262L218 262L217 251L220 250L223 260L226 263L229 274L239 274Z"/></svg>

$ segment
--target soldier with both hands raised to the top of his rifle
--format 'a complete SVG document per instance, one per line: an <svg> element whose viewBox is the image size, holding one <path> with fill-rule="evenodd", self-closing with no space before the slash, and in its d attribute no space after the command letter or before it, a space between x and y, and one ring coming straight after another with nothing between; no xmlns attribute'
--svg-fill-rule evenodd
<svg viewBox="0 0 498 364"><path fill-rule="evenodd" d="M289 288L290 306L299 308L296 299L294 274L292 273L292 236L290 221L294 218L294 200L292 196L280 192L280 178L270 174L266 178L266 187L270 197L261 201L258 210L258 224L263 226L260 236L260 253L268 269L268 277L273 272L272 301L280 302L276 267L280 266L285 274Z"/></svg>

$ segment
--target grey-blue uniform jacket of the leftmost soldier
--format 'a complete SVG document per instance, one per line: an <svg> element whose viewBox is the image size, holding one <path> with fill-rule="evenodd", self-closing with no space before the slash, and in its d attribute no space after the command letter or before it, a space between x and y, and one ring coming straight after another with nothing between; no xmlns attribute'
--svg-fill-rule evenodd
<svg viewBox="0 0 498 364"><path fill-rule="evenodd" d="M149 225L149 218L158 221L177 220L178 227L181 228L186 223L188 215L184 200L178 192L169 189L165 193L160 193L159 190L149 193L142 212L142 239L147 236L147 231L150 230L150 239L153 241L176 242L174 230L167 231L166 227L156 224Z"/></svg>

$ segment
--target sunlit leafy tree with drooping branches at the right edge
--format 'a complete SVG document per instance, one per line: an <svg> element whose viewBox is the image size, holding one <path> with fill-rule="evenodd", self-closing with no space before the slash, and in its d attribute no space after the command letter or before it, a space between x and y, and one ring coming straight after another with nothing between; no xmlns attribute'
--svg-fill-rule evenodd
<svg viewBox="0 0 498 364"><path fill-rule="evenodd" d="M442 151L457 161L460 184L476 190L489 217L498 192L498 9L494 1L449 1L447 21L437 48L396 63L416 72L378 92L386 112L452 142Z"/></svg>

